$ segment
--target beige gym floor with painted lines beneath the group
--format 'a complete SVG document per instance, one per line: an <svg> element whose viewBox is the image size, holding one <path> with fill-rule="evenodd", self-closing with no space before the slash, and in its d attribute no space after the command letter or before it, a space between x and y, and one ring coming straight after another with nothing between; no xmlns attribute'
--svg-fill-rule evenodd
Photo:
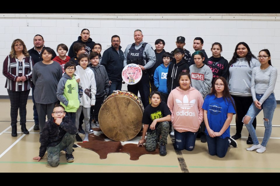
<svg viewBox="0 0 280 186"><path fill-rule="evenodd" d="M29 135L21 133L17 125L17 137L11 136L10 101L0 100L0 172L280 172L280 105L274 112L272 135L265 153L246 151L251 145L246 144L248 131L243 127L242 137L237 140L237 148L229 147L224 158L211 156L207 143L197 139L191 152L175 151L171 138L168 137L167 155L142 155L139 160L129 160L126 153L110 153L104 160L91 150L75 148L75 161L67 163L64 151L61 152L60 165L50 167L46 155L37 162L32 160L39 154L39 133L34 131L33 103L27 102L27 129ZM264 127L262 112L257 117L257 136L261 143ZM18 117L19 119L19 117ZM230 134L235 134L233 118ZM83 138L83 135L81 135ZM75 142L76 144L77 142Z"/></svg>

